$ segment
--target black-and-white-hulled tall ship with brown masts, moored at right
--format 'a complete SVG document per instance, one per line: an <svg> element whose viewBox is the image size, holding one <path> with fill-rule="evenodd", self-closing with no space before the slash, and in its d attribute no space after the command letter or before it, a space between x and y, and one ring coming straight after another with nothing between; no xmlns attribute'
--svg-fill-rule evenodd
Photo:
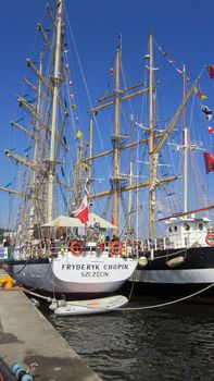
<svg viewBox="0 0 214 381"><path fill-rule="evenodd" d="M212 97L214 66L204 65L192 81L186 66L172 59L153 35L148 46L140 79L128 86L119 37L104 94L89 111L90 131L95 122L102 125L105 140L109 126L104 127L103 113L112 106L116 121L111 131L113 148L109 145L83 160L90 171L93 163L96 177L101 176L95 165L98 160L112 155L114 164L110 188L90 197L110 202L113 196L113 221L124 223L121 234L127 243L137 243L139 265L129 279L136 291L212 295L214 128L206 91ZM154 64L154 51L160 66ZM104 181L101 185L104 188Z"/></svg>

